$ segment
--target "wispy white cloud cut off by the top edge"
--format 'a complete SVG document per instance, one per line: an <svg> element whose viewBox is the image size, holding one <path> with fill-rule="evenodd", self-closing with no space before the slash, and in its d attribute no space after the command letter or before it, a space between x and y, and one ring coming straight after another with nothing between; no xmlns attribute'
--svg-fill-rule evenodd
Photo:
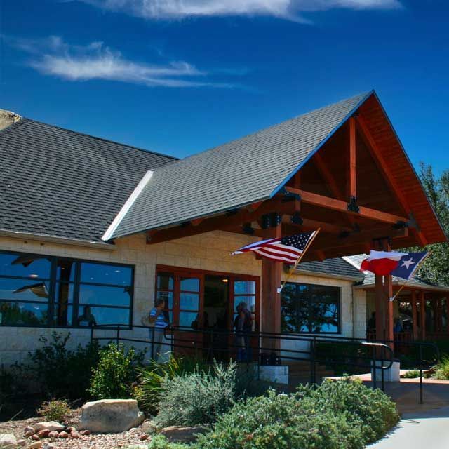
<svg viewBox="0 0 449 449"><path fill-rule="evenodd" d="M147 19L182 19L220 15L267 15L307 21L301 13L333 8L394 9L399 0L81 0L111 11Z"/></svg>

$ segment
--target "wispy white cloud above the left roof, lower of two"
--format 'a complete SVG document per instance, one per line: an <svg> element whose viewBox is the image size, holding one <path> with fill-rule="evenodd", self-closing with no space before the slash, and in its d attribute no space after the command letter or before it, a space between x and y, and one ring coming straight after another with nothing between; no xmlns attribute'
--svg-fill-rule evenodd
<svg viewBox="0 0 449 449"><path fill-rule="evenodd" d="M28 65L42 74L59 76L69 81L102 79L165 87L232 87L231 84L208 81L208 73L185 61L165 64L134 62L102 42L86 46L69 45L59 36L41 40L13 39L6 43L31 55Z"/></svg>

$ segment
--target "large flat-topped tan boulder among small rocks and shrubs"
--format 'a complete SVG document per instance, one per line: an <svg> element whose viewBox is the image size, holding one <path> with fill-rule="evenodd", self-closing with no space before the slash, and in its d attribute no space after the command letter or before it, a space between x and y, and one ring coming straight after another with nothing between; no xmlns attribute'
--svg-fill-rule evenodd
<svg viewBox="0 0 449 449"><path fill-rule="evenodd" d="M78 428L98 434L117 434L139 426L144 419L134 399L102 399L83 405Z"/></svg>

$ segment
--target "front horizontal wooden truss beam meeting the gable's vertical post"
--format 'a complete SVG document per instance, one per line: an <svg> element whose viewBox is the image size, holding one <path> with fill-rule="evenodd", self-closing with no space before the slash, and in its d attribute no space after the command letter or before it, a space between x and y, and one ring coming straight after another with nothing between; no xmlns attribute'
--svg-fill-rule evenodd
<svg viewBox="0 0 449 449"><path fill-rule="evenodd" d="M408 222L408 218L406 217L382 212L381 210L366 208L364 206L360 206L360 211L358 213L351 212L348 210L346 201L329 198L328 196L314 194L301 189L295 189L294 187L286 187L286 189L288 192L299 194L302 202L313 204L314 206L321 206L323 208L337 210L339 212L349 213L351 215L356 215L358 217L368 218L379 222L391 223L391 225L394 225L397 222Z"/></svg>

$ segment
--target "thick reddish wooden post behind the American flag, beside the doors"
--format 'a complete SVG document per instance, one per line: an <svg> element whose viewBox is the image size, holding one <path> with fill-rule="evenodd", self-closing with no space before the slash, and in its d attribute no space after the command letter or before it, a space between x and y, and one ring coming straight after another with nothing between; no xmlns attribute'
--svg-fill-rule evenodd
<svg viewBox="0 0 449 449"><path fill-rule="evenodd" d="M281 236L281 225L269 229L268 238ZM262 316L261 331L281 333L281 295L277 289L281 286L282 264L267 258L262 258ZM262 339L262 347L278 350L279 340Z"/></svg>

